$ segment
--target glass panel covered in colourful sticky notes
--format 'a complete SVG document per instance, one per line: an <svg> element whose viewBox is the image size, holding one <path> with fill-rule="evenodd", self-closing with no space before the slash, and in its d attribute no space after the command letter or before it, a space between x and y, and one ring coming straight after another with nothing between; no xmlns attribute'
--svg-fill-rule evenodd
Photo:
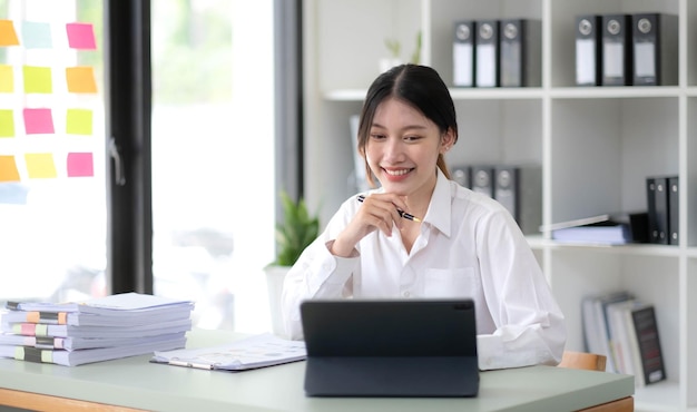
<svg viewBox="0 0 697 412"><path fill-rule="evenodd" d="M0 0L0 301L104 293L102 2Z"/></svg>

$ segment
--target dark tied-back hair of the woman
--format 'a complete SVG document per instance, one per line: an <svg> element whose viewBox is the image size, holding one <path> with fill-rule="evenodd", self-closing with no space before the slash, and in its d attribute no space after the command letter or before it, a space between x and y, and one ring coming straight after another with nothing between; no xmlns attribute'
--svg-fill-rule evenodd
<svg viewBox="0 0 697 412"><path fill-rule="evenodd" d="M359 151L365 159L365 145L373 124L377 106L385 99L394 97L421 111L428 119L438 126L441 134L448 129L453 131L453 145L458 141L458 119L455 105L450 96L448 86L440 75L431 67L420 65L401 65L380 75L367 89L361 121L359 124ZM438 155L438 167L450 178L445 158ZM365 171L371 186L374 186L367 159Z"/></svg>

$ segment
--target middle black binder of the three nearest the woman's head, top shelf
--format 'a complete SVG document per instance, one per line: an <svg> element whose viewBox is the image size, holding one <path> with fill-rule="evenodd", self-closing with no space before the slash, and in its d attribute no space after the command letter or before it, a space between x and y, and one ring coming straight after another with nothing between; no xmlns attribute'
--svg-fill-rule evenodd
<svg viewBox="0 0 697 412"><path fill-rule="evenodd" d="M474 37L474 86L499 86L499 20L477 22Z"/></svg>

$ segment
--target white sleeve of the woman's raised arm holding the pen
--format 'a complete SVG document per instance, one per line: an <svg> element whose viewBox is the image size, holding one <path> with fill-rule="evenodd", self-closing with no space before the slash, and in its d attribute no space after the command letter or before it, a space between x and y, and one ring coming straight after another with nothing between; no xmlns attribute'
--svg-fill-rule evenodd
<svg viewBox="0 0 697 412"><path fill-rule="evenodd" d="M346 226L352 210L344 204L324 232L302 253L285 276L282 295L283 323L286 335L302 340L300 306L311 298L338 298L351 295L351 274L360 264L357 252L352 257L332 255L330 247Z"/></svg>

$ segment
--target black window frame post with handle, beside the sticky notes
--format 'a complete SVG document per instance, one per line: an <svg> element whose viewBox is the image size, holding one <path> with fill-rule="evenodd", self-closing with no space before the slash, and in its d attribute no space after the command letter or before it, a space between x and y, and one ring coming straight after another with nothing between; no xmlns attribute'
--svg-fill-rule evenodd
<svg viewBox="0 0 697 412"><path fill-rule="evenodd" d="M107 278L110 293L153 293L150 1L107 3Z"/></svg>

